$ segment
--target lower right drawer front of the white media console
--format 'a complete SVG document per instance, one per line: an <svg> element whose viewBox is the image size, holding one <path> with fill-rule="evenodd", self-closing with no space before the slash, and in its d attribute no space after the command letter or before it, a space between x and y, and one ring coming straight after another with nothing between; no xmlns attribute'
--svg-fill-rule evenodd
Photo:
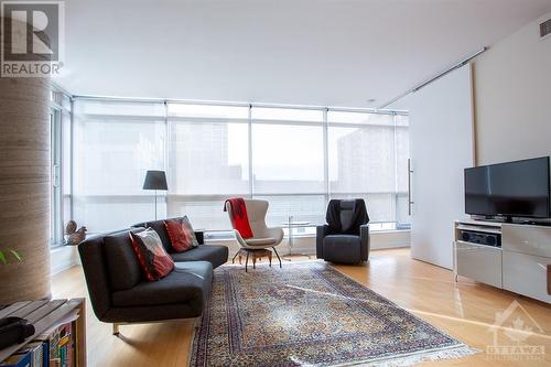
<svg viewBox="0 0 551 367"><path fill-rule="evenodd" d="M504 251L504 288L551 303L548 266L551 258Z"/></svg>

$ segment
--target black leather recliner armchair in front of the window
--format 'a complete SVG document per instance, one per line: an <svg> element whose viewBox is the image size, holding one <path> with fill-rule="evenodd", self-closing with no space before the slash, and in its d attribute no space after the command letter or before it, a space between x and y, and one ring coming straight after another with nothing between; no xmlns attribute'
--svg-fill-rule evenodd
<svg viewBox="0 0 551 367"><path fill-rule="evenodd" d="M332 199L327 224L316 227L316 257L336 263L369 259L369 216L361 198Z"/></svg>

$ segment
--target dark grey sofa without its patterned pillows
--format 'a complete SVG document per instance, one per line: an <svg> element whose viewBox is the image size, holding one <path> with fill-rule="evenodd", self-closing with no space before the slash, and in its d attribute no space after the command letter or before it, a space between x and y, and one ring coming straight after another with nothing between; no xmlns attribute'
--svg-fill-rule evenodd
<svg viewBox="0 0 551 367"><path fill-rule="evenodd" d="M148 226L160 233L163 246L170 249L160 223ZM210 294L213 269L228 259L225 246L201 244L186 252L170 251L175 269L168 277L149 282L129 235L130 230L143 229L132 227L95 236L78 245L94 313L100 321L114 324L115 335L120 324L201 316Z"/></svg>

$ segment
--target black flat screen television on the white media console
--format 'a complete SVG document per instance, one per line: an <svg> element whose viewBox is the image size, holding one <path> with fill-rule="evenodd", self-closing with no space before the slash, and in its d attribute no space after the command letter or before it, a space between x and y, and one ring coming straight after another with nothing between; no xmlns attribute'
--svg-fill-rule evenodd
<svg viewBox="0 0 551 367"><path fill-rule="evenodd" d="M549 218L549 156L465 170L465 213Z"/></svg>

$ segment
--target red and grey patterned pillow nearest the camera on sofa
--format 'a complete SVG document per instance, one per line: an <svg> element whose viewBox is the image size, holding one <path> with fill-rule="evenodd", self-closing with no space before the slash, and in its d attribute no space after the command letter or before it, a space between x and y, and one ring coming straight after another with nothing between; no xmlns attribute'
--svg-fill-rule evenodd
<svg viewBox="0 0 551 367"><path fill-rule="evenodd" d="M166 277L174 269L174 261L166 253L161 238L152 228L138 234L130 233L132 248L149 281Z"/></svg>

